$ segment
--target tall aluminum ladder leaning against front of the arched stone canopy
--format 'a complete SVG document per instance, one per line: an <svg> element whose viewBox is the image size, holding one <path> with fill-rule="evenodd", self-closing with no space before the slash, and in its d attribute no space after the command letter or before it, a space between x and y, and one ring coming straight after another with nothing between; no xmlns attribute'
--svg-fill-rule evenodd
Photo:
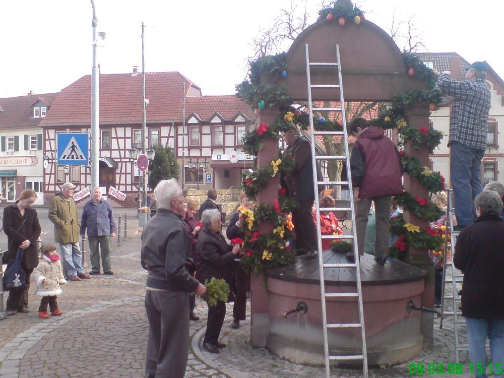
<svg viewBox="0 0 504 378"><path fill-rule="evenodd" d="M311 84L310 79L310 69L316 69L316 67L335 67L338 69L338 83L339 85L324 85L324 84ZM343 84L341 79L341 65L340 65L340 50L339 45L336 45L336 63L333 62L319 62L312 63L309 61L308 54L308 45L306 44L306 80L307 80L307 89L308 89L308 107L309 107L309 120L310 120L310 136L311 136L311 161L312 161L312 169L313 169L313 177L317 177L317 160L344 160L346 162L347 172L350 172L350 159L348 152L348 136L346 131L346 117L345 117L345 101L343 97ZM313 107L311 90L316 88L335 88L339 89L339 98L341 102L340 108L333 107ZM337 98L337 95L335 96ZM314 130L313 127L313 111L328 111L328 112L341 112L341 116L343 119L343 131L324 131L318 132ZM344 156L316 156L315 154L315 137L317 135L321 136L335 136L340 135L343 138L343 143L345 145L345 155ZM352 183L351 181L317 181L317 179L313 180L313 188L314 193L319 193L318 185L348 185L350 195L352 195ZM327 211L349 211L352 215L352 235L322 235L320 221L317 222L317 235L318 235L318 247L319 247L319 272L320 272L320 291L321 291L321 300L322 300L322 320L324 326L324 355L325 355L325 364L326 364L326 377L330 376L330 360L333 361L348 361L348 360L362 360L362 370L363 376L365 378L368 377L367 373L367 351L366 351L366 334L364 330L364 312L362 306L362 286L361 286L361 277L360 277L360 266L359 266L359 253L357 249L357 236L355 233L355 212L354 212L354 204L352 199L350 198L350 208L325 208ZM316 212L317 219L320 220L320 203L319 196L315 196L315 204L316 204ZM354 261L352 264L324 264L322 257L322 239L352 239L353 240L353 249L354 249ZM335 269L335 268L354 268L356 270L356 292L350 293L328 293L326 294L326 287L324 281L324 271L325 269ZM346 298L356 298L359 306L359 323L344 323L344 324L327 324L327 314L326 314L326 298L335 298L335 297L346 297ZM328 345L328 329L340 329L340 328L360 328L361 330L361 339L362 339L362 354L360 355L345 355L345 356L332 356L329 354L329 345Z"/></svg>

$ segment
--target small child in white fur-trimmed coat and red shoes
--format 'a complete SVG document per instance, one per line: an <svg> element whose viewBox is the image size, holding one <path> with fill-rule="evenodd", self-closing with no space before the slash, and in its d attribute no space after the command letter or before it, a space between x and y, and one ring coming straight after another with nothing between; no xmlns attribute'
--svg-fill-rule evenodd
<svg viewBox="0 0 504 378"><path fill-rule="evenodd" d="M59 316L63 313L58 309L56 298L57 295L61 294L59 285L66 284L67 281L63 276L56 246L52 243L45 243L42 244L40 250L42 251L42 256L37 268L32 273L32 282L37 283L35 294L42 296L40 307L38 308L38 317L47 319L49 318L47 304L49 304L52 316Z"/></svg>

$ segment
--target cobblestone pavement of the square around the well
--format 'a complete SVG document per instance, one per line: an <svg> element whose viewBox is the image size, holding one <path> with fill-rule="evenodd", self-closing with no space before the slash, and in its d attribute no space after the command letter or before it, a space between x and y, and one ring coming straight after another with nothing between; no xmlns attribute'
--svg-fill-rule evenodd
<svg viewBox="0 0 504 378"><path fill-rule="evenodd" d="M141 377L144 375L148 322L144 308L146 272L140 266L140 239L116 247L112 254L114 276L62 286L59 307L64 314L39 319L39 297L30 293L28 314L17 313L0 321L0 377ZM34 288L32 289L34 291ZM191 345L187 377L322 377L322 367L283 360L264 348L250 345L250 323L230 327L232 304L228 305L221 339L228 346L218 355L200 348L207 320L206 304L198 298L200 321L191 322ZM249 317L248 317L249 319ZM455 362L453 321L434 328L435 342L411 363ZM467 369L469 359L461 354ZM332 376L359 377L360 370L334 369ZM371 369L372 377L406 377L408 363ZM427 374L430 375L430 374ZM444 376L436 374L437 376ZM446 376L455 376L447 374ZM469 374L456 374L468 377Z"/></svg>

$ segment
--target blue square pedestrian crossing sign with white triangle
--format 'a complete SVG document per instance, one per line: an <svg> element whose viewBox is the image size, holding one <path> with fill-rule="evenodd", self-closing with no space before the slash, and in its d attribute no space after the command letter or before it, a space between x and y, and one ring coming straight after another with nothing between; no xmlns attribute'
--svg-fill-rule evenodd
<svg viewBox="0 0 504 378"><path fill-rule="evenodd" d="M89 133L56 134L57 165L89 165Z"/></svg>

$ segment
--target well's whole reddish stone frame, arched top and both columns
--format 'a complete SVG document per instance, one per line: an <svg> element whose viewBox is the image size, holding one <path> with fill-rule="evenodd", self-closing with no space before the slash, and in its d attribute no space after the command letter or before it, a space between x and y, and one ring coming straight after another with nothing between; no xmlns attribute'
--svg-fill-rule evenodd
<svg viewBox="0 0 504 378"><path fill-rule="evenodd" d="M392 38L370 21L362 20L359 25L346 21L344 26L338 20L321 19L304 30L293 42L287 52L287 77L277 78L276 84L283 87L294 101L307 101L306 55L308 44L310 62L336 62L336 45L339 45L344 100L389 102L395 94L414 89L428 89L428 83L408 75L401 51ZM335 67L317 67L310 70L311 84L339 84ZM261 82L271 83L272 78L262 75ZM313 101L339 101L339 90L313 89ZM406 109L408 123L421 128L428 125L427 104L413 104ZM266 107L260 112L260 122L272 123L279 115L278 106ZM277 158L278 141L267 140L258 154L260 168ZM408 156L415 156L422 165L428 164L428 149L416 150L410 144L405 146ZM279 178L274 177L270 184L259 193L260 203L273 203L278 194ZM404 186L415 197L427 198L426 188L408 175L404 176ZM424 219L406 213L406 222L420 227L427 225ZM268 231L271 225L261 224L261 232ZM410 247L408 261L427 272L421 305L434 305L434 270L426 250ZM267 283L263 277L253 275L251 298L251 343L264 347L270 333L271 304ZM424 342L432 342L433 317L430 313L419 314L421 333Z"/></svg>

